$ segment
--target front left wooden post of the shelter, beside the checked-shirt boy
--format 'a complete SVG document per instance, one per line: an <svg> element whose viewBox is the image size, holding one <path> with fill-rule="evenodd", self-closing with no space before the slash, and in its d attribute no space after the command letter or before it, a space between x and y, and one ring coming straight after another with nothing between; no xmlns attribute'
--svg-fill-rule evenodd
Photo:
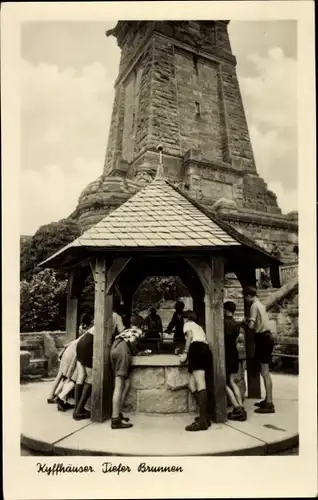
<svg viewBox="0 0 318 500"><path fill-rule="evenodd" d="M113 333L113 294L106 293L106 257L96 257L94 353L91 419L103 422L111 416L113 380L110 368L110 348Z"/></svg>

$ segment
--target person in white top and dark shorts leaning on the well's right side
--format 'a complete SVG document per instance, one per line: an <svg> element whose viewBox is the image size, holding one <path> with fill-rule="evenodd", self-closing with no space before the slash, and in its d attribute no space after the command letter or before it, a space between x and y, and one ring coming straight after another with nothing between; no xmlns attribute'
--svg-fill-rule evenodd
<svg viewBox="0 0 318 500"><path fill-rule="evenodd" d="M211 425L208 414L207 379L212 371L212 353L205 331L196 323L196 314L187 311L183 331L186 337L181 363L188 359L189 390L199 406L199 417L186 427L187 431L203 431Z"/></svg>

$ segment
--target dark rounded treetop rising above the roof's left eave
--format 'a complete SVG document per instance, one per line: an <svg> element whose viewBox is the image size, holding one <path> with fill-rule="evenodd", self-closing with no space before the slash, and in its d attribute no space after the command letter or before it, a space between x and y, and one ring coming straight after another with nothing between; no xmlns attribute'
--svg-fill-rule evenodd
<svg viewBox="0 0 318 500"><path fill-rule="evenodd" d="M62 219L41 226L29 239L21 238L20 279L31 280L40 271L40 262L71 243L80 234L77 222ZM57 276L64 279L65 273L59 272Z"/></svg>

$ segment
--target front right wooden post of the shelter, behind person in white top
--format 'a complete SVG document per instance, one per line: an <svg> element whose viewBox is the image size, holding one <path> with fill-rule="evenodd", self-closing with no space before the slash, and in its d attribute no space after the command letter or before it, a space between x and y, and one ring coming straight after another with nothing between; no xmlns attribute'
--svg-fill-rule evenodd
<svg viewBox="0 0 318 500"><path fill-rule="evenodd" d="M227 420L226 374L224 352L224 260L222 256L212 256L209 290L205 295L206 334L213 354L214 418L216 422Z"/></svg>

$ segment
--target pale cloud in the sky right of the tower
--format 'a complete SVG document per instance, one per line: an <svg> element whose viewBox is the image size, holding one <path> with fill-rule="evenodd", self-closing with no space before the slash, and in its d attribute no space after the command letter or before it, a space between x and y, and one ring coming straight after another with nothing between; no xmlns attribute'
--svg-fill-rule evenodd
<svg viewBox="0 0 318 500"><path fill-rule="evenodd" d="M248 55L256 76L240 78L259 174L283 211L295 210L297 190L297 62L281 47Z"/></svg>

